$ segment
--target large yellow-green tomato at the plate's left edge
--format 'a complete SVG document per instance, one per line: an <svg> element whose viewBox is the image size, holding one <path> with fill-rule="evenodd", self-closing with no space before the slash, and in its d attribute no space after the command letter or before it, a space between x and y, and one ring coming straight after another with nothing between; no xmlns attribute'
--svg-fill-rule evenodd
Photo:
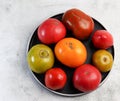
<svg viewBox="0 0 120 101"><path fill-rule="evenodd" d="M48 46L37 44L29 50L27 61L33 72L44 73L52 68L54 64L54 54Z"/></svg>

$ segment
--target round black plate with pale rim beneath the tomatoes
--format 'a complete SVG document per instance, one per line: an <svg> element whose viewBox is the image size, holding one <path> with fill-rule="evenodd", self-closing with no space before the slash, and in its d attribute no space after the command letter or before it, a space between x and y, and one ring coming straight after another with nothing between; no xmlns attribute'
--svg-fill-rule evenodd
<svg viewBox="0 0 120 101"><path fill-rule="evenodd" d="M51 18L56 18L56 19L61 21L62 15L63 15L63 13L57 14L55 16L52 16ZM92 41L91 41L91 37L92 37L93 33L96 30L100 30L100 29L106 30L105 27L102 24L100 24L97 20L95 20L94 18L92 18L92 19L93 19L94 24L95 24L94 30L93 30L91 36L89 37L89 39L82 41L84 43L84 45L86 46L87 52L88 52L88 58L87 58L86 63L92 63L92 61L91 61L92 60L91 59L92 54L97 50L93 46ZM30 37L30 40L28 42L28 47L27 47L27 53L34 45L41 43L38 39L38 36L37 36L37 29L35 30L35 32ZM67 33L69 33L69 34L67 34L66 37L74 37L71 31L67 30ZM52 50L54 49L54 46L55 46L55 44L54 45L53 44L49 45L49 47L51 47ZM107 49L107 51L109 51L114 58L114 47L113 46L110 47L109 49ZM78 91L77 89L75 89L73 87L72 75L73 75L73 72L74 72L75 69L66 67L65 65L61 64L56 58L55 58L55 64L54 64L53 68L54 67L61 67L67 74L67 83L66 83L65 87L61 90L54 91L54 90L51 90L51 89L47 88L45 86L45 83L44 83L45 74L37 74L37 73L34 73L33 71L31 71L31 72L32 72L34 78L39 82L39 84L41 86L43 86L45 89L47 89L47 90L49 90L49 91L51 91L55 94L59 94L59 95L63 95L63 96L80 96L80 95L86 94L86 93ZM106 81L109 73L110 73L110 71L106 72L106 73L101 73L102 74L102 81L101 81L99 86L101 86Z"/></svg>

